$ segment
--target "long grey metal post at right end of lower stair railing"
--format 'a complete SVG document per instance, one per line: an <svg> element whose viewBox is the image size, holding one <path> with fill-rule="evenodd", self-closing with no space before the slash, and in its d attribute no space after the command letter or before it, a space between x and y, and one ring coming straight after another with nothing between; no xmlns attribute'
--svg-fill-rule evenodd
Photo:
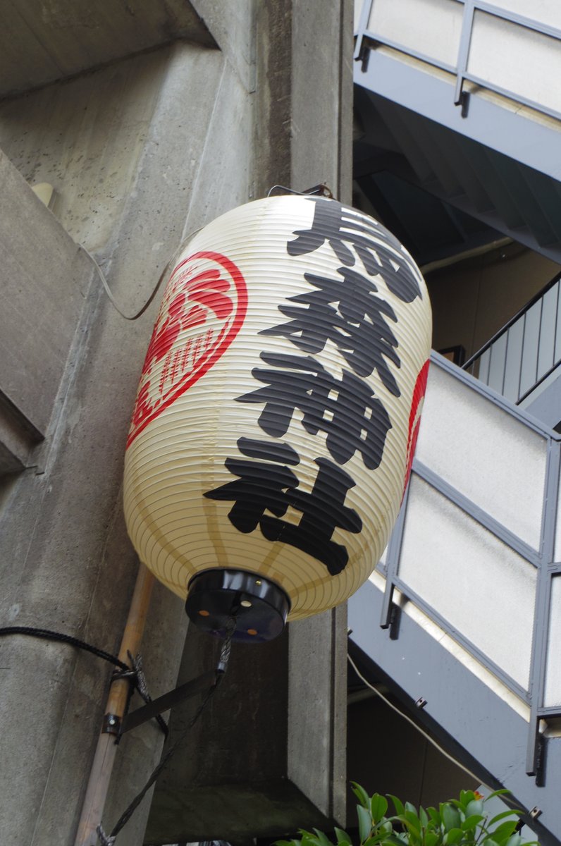
<svg viewBox="0 0 561 846"><path fill-rule="evenodd" d="M554 555L560 465L561 444L558 441L550 440L547 444L547 468L542 510L541 562L537 570L536 606L530 662L530 728L526 750L526 773L529 776L536 776L540 780L542 773L539 772L539 762L542 755L540 755L539 722L545 688L552 580L552 574L548 571L547 565L553 561Z"/></svg>

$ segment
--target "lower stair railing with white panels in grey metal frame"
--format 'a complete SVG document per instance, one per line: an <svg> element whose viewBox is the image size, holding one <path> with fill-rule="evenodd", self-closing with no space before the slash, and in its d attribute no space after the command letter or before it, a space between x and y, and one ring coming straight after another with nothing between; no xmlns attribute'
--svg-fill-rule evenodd
<svg viewBox="0 0 561 846"><path fill-rule="evenodd" d="M561 717L561 438L432 354L413 475L377 571L540 719Z"/></svg>

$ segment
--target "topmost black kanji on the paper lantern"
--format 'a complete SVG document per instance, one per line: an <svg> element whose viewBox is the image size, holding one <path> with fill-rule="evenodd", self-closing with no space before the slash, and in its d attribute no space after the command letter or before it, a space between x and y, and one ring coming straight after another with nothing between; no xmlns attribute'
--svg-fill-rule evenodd
<svg viewBox="0 0 561 846"><path fill-rule="evenodd" d="M298 237L287 244L289 255L311 253L327 241L341 264L354 266L358 255L366 272L381 274L390 291L404 303L422 297L409 256L387 229L348 206L316 197L307 199L316 204L314 219L310 229L294 231Z"/></svg>

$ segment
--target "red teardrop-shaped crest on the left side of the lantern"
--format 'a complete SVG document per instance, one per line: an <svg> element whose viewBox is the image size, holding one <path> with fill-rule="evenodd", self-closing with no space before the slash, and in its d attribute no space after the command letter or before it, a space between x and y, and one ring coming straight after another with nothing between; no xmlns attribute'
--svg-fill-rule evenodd
<svg viewBox="0 0 561 846"><path fill-rule="evenodd" d="M198 252L174 269L140 376L127 447L225 353L247 311L245 279L233 261Z"/></svg>

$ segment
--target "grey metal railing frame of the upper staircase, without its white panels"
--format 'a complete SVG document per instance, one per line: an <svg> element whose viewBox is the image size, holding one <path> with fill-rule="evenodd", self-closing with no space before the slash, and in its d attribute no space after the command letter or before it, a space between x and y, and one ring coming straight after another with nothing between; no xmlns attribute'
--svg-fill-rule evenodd
<svg viewBox="0 0 561 846"><path fill-rule="evenodd" d="M457 79L454 86L454 104L456 106L462 106L463 117L467 117L466 94L463 91L463 86L465 80L468 80L469 82L473 82L475 85L481 85L490 91L496 91L502 96L507 96L511 100L524 103L525 106L529 106L536 109L538 112L550 115L552 118L561 119L561 113L555 109L547 107L543 103L531 100L528 97L522 96L516 91L509 91L509 89L505 89L500 85L495 85L492 80L484 80L481 77L476 76L476 74L470 74L467 69L470 57L471 38L473 35L473 23L476 12L491 14L495 18L506 20L511 24L522 26L527 30L538 32L543 36L555 38L558 41L561 41L561 30L558 30L557 27L554 26L541 24L534 19L525 17L525 15L510 12L508 9L495 6L493 3L487 3L487 0L455 0L455 2L464 3L465 6L462 30L459 36L459 55L455 66L441 62L437 58L426 56L426 54L416 51L411 47L405 47L404 44L388 39L374 30L369 30L368 21L370 20L371 10L375 0L364 0L360 13L359 28L355 33L355 59L358 60L359 58L364 58L367 42L373 42L374 44L383 44L387 47L392 47L395 50L399 50L399 52L404 52L409 56L418 58L422 62L432 64L436 68L448 71L448 73L451 74L456 74Z"/></svg>

